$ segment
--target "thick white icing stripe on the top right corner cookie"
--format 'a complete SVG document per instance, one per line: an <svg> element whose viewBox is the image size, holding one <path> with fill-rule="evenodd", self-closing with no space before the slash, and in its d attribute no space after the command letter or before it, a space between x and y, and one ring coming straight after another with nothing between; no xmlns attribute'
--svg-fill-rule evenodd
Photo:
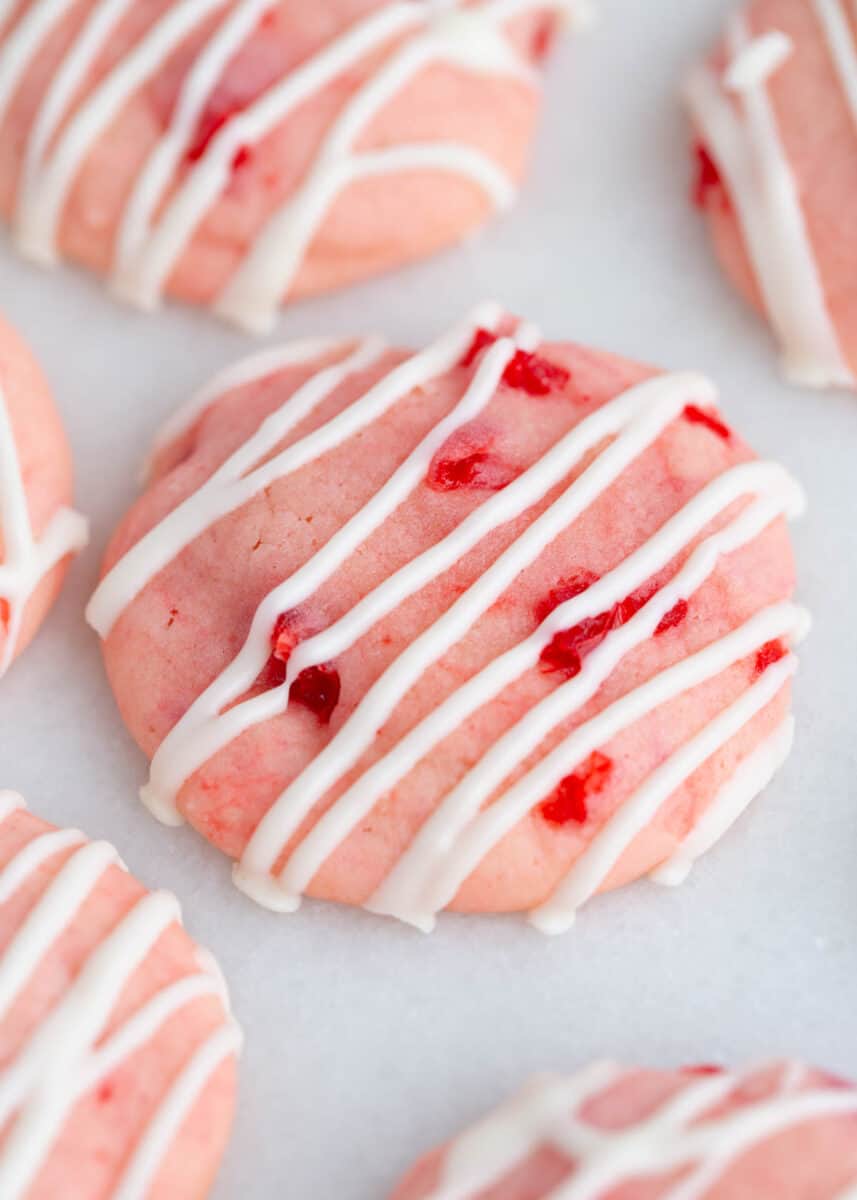
<svg viewBox="0 0 857 1200"><path fill-rule="evenodd" d="M765 71L771 46L760 50L747 20L736 16L727 37L741 79L739 98L725 94L708 65L688 79L687 100L703 142L726 182L771 324L790 379L811 386L853 386L807 228L795 175L777 127ZM781 55L783 43L774 50ZM749 58L748 58L749 55ZM742 70L747 67L747 70Z"/></svg>

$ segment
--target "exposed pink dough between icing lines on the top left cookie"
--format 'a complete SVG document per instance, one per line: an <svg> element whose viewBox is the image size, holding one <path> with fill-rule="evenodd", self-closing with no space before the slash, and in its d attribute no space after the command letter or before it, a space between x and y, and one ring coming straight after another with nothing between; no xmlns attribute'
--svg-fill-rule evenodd
<svg viewBox="0 0 857 1200"><path fill-rule="evenodd" d="M34 7L31 0L17 5L0 40L12 38ZM66 106L61 130L106 74L178 7L179 0L140 0L130 7L102 43L107 49L96 55L73 102ZM396 7L401 8L390 0L274 4L215 80L185 139L156 216L192 170L205 168L216 134L232 119L359 23ZM473 5L466 0L462 7L479 8L481 0ZM20 202L23 155L46 88L67 61L83 22L95 8L95 0L70 6L68 16L43 42L13 91L0 124L0 209L8 217ZM173 127L188 72L236 8L238 0L224 0L216 14L198 23L166 64L121 106L85 155L62 206L58 248L64 257L101 274L112 272L118 230L134 182L154 148ZM558 26L558 6L549 0L544 5L534 0L522 8L507 26L509 47L515 46L520 54L520 67L539 65ZM413 31L404 41L412 36ZM462 34L460 43L466 44L467 36ZM169 294L193 304L209 304L221 294L269 218L294 197L317 164L335 120L402 44L402 36L382 40L377 50L358 58L335 73L332 82L314 89L260 142L239 148L226 186L203 214L169 272ZM514 185L523 174L538 109L535 76L525 78L520 68L515 77L509 70L483 71L467 64L435 61L414 72L382 104L356 149L454 142L483 152ZM288 298L343 287L431 254L469 234L491 209L485 190L456 170L410 168L347 182L326 215L322 214Z"/></svg>

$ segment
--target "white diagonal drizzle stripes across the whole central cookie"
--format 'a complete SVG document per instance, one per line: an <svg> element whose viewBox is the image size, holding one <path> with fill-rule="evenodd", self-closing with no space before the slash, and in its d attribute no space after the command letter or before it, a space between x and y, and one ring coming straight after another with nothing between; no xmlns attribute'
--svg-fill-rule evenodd
<svg viewBox="0 0 857 1200"><path fill-rule="evenodd" d="M286 348L257 356L251 364L239 365L221 377L228 392L254 378L266 378L278 364L306 361L305 354L320 355L317 373L275 408L199 491L179 504L106 575L88 611L91 624L102 637L109 636L127 605L193 538L238 504L246 503L260 487L284 478L371 421L382 419L413 388L445 374L461 360L475 329L497 330L501 319L497 306L485 306L427 350L394 367L347 409L278 452L278 442L294 428L298 419L311 412L320 396L330 395L354 370L354 354L364 353L366 343L362 343L364 349L350 354L329 343L310 343L308 348L301 343L293 350ZM260 904L277 911L294 911L320 868L376 804L468 718L535 668L556 634L610 611L673 560L685 556L673 576L586 656L576 677L534 704L441 799L366 907L430 930L436 914L454 901L462 884L499 841L599 746L643 719L653 708L714 679L768 643L781 640L785 644L795 644L808 629L807 614L792 604L778 604L757 612L739 628L605 707L568 734L514 786L503 790L521 763L535 755L553 731L595 696L623 659L648 641L678 604L693 599L724 557L754 542L777 520L802 511L803 493L781 467L755 461L733 466L702 487L613 570L557 607L534 634L492 659L447 696L354 779L293 847L284 864L277 865L317 803L358 764L377 730L432 665L474 628L556 538L655 444L688 404L717 402L717 392L708 380L695 374L677 374L649 379L603 404L513 482L489 496L450 533L394 571L326 629L300 642L288 659L282 684L262 692L253 690L270 659L271 632L277 618L311 598L359 552L413 493L448 438L485 409L519 348L533 352L538 344L538 331L520 325L485 350L460 401L448 415L325 545L262 600L239 654L190 706L152 758L149 784L142 797L160 820L180 823L178 800L185 784L236 737L286 713L292 684L301 672L335 661L407 598L453 568L492 530L544 503L571 476L571 482L565 484L479 578L382 672L328 744L269 809L234 871L235 883ZM331 354L337 356L332 367L324 365ZM178 434L203 418L205 406L216 401L217 391L206 389L200 396L204 403L194 400L173 426ZM258 461L264 462L264 468L256 467ZM712 526L715 530L706 533ZM767 708L786 686L796 665L795 656L785 654L663 762L593 834L556 894L532 914L534 924L550 932L568 929L580 905L604 886L613 866L635 838L659 816L670 797ZM714 798L697 828L677 846L675 858L661 868L661 881L685 875L693 862L725 834L785 758L790 737L787 722L745 761L736 764L733 778Z"/></svg>

